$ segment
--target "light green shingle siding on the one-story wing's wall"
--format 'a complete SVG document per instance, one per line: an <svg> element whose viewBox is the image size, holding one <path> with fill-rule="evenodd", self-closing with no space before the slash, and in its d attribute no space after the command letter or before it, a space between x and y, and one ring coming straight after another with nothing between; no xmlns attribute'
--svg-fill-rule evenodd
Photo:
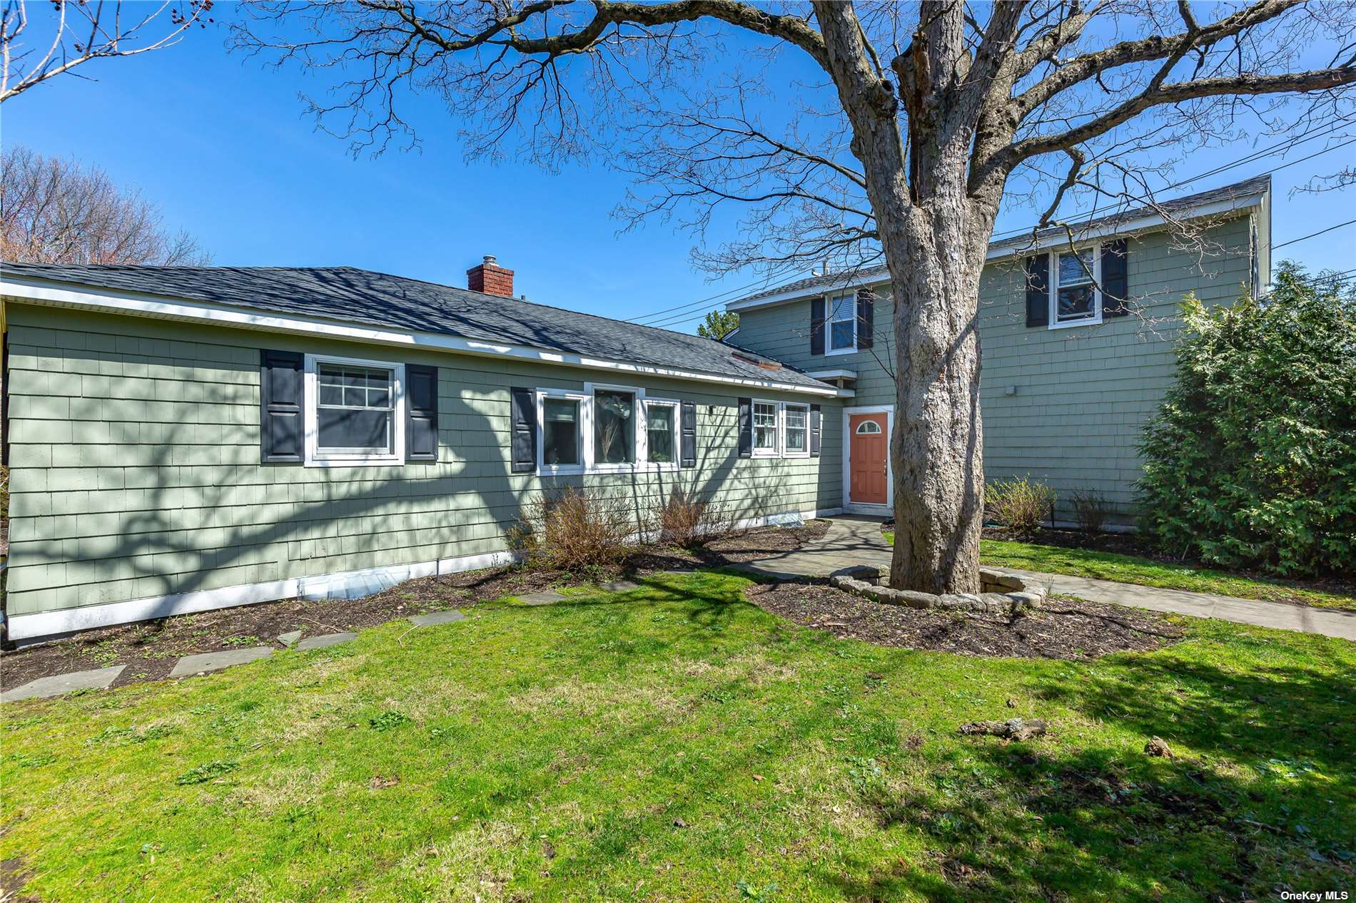
<svg viewBox="0 0 1356 903"><path fill-rule="evenodd" d="M499 552L542 488L616 488L648 510L674 485L740 518L838 507L841 420L824 454L735 457L749 389L532 362L312 342L8 305L11 616ZM259 464L259 348L431 363L439 461ZM697 403L698 466L587 477L510 475L509 386L633 384ZM805 396L758 393L805 401Z"/></svg>

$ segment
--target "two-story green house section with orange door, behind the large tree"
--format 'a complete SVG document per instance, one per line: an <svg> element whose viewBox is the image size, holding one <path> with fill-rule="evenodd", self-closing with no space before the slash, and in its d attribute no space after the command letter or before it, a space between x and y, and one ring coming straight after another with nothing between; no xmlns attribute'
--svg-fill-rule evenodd
<svg viewBox="0 0 1356 903"><path fill-rule="evenodd" d="M1070 239L1070 235L1073 239ZM1089 271L1092 278L1089 278ZM1180 304L1271 278L1271 178L995 241L980 281L984 475L1100 492L1134 522L1138 447L1173 380ZM842 389L842 502L888 513L894 308L884 267L751 294L732 342ZM1067 518L1056 504L1056 519Z"/></svg>

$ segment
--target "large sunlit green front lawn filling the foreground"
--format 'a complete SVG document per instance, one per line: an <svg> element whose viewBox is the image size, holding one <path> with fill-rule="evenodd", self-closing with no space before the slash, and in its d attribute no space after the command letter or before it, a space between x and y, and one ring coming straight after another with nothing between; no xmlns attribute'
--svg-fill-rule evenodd
<svg viewBox="0 0 1356 903"><path fill-rule="evenodd" d="M1201 900L1351 885L1356 644L835 640L666 576L0 708L53 900ZM1008 700L1013 705L1006 705ZM961 738L1040 716L1051 736ZM1176 761L1150 758L1165 738Z"/></svg>

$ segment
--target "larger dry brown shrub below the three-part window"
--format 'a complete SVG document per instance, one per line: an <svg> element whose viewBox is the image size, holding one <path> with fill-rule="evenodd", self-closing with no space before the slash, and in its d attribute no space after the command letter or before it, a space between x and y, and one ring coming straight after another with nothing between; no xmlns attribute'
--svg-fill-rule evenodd
<svg viewBox="0 0 1356 903"><path fill-rule="evenodd" d="M578 571L618 564L631 550L636 523L616 492L567 487L541 494L504 531L509 548L533 564Z"/></svg>

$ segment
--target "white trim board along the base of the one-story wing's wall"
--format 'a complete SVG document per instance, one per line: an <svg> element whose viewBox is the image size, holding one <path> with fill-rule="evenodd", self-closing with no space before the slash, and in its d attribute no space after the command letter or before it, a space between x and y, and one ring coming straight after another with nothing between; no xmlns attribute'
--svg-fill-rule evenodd
<svg viewBox="0 0 1356 903"><path fill-rule="evenodd" d="M781 523L791 517L799 517L810 521L814 518L833 517L834 514L842 514L842 508L786 511L782 514L744 518L735 525L735 529L747 530L757 526L769 526L773 523ZM331 587L342 590L353 584L373 582L386 582L388 586L395 586L396 583L418 578L499 567L514 560L515 556L511 552L488 552L484 555L465 555L456 559L438 559L437 561L391 564L386 567L366 568L362 571L339 571L335 574L289 578L286 580L271 580L267 583L243 583L237 586L225 586L217 590L197 590L194 593L178 593L174 595L153 595L144 599L108 602L107 605L87 605L79 609L61 609L58 611L14 614L8 618L8 637L11 640L28 640L31 643L79 630L91 630L94 628L115 626L119 624L134 624L137 621L149 621L152 618L172 617L175 614L193 614L194 611L231 609L239 605L275 602L278 599L290 599L294 597L327 598L331 595ZM339 595L342 598L342 593Z"/></svg>

